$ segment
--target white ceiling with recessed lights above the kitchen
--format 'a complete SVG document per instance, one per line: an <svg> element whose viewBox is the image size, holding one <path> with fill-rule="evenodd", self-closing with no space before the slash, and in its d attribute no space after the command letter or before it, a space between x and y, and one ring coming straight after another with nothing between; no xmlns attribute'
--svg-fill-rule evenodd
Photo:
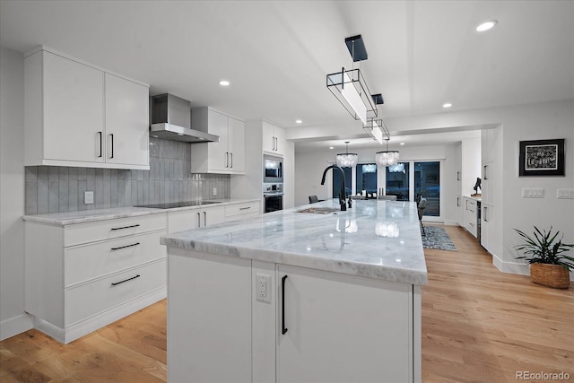
<svg viewBox="0 0 574 383"><path fill-rule="evenodd" d="M474 30L491 19L493 30ZM354 123L326 74L352 67L344 38L356 34L383 117L440 113L446 101L455 111L574 99L572 1L0 3L5 48L44 44L150 83L152 94L286 128L300 118L309 132Z"/></svg>

